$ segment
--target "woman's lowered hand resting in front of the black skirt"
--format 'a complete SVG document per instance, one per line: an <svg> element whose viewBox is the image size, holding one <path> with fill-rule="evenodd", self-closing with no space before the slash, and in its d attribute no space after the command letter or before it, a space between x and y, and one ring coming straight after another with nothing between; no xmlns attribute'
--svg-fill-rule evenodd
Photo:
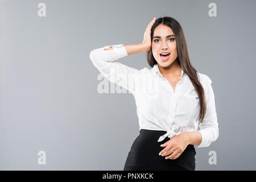
<svg viewBox="0 0 256 182"><path fill-rule="evenodd" d="M162 151L160 151L159 155L166 156L166 159L177 159L185 150L185 148L187 148L188 144L189 142L187 134L178 134L172 137L166 143L160 145L161 147L165 148Z"/></svg>

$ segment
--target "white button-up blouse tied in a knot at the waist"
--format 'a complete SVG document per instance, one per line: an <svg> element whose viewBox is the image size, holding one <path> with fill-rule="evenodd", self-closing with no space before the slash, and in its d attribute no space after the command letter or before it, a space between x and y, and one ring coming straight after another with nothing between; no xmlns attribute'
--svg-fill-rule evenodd
<svg viewBox="0 0 256 182"><path fill-rule="evenodd" d="M113 49L105 50L105 48ZM93 65L109 79L133 94L137 105L139 130L167 131L164 138L172 138L186 131L197 131L200 127L202 141L197 147L208 147L218 138L218 122L215 109L212 80L198 73L205 90L207 112L200 124L196 121L199 114L199 97L191 80L181 69L181 80L175 92L170 82L159 72L158 64L153 68L135 69L119 63L118 59L127 56L123 44L105 46L90 52Z"/></svg>

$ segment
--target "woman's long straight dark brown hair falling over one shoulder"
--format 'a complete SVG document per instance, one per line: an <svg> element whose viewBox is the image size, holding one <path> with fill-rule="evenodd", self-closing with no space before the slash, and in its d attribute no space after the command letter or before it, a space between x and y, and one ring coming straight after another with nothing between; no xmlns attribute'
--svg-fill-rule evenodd
<svg viewBox="0 0 256 182"><path fill-rule="evenodd" d="M177 45L177 63L179 63L180 67L183 69L183 71L188 75L190 78L197 96L199 97L199 104L200 104L200 113L199 117L199 123L203 121L205 112L207 110L206 108L206 101L205 101L205 94L204 94L204 88L201 85L199 81L199 77L197 76L197 71L195 68L192 67L189 56L188 56L188 48L187 43L185 41L185 36L183 33L183 30L174 18L171 18L169 16L164 16L163 18L158 18L155 20L155 23L151 27L151 42L152 37L155 31L155 28L159 24L164 24L172 29L174 32L175 38L176 38L176 45ZM150 67L154 67L155 64L157 64L153 54L152 54L152 47L150 51L147 52L147 61Z"/></svg>

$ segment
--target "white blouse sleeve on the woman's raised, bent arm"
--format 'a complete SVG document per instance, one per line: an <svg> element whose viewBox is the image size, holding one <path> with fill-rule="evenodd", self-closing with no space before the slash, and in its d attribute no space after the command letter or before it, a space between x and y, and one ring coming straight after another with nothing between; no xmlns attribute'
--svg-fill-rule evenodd
<svg viewBox="0 0 256 182"><path fill-rule="evenodd" d="M113 49L104 50L109 47ZM117 61L127 55L123 44L117 44L94 49L90 52L90 59L98 71L110 82L114 82L134 94L135 76L139 73L139 70Z"/></svg>

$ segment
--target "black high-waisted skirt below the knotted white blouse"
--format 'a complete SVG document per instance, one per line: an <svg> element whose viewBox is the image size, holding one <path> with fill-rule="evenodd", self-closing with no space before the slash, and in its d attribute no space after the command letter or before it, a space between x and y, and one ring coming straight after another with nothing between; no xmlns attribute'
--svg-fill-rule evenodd
<svg viewBox="0 0 256 182"><path fill-rule="evenodd" d="M139 130L139 135L131 146L123 170L195 171L196 150L192 144L189 144L177 159L165 159L166 156L159 155L159 152L164 149L160 144L170 140L166 137L162 142L158 142L159 137L166 133L166 131Z"/></svg>

